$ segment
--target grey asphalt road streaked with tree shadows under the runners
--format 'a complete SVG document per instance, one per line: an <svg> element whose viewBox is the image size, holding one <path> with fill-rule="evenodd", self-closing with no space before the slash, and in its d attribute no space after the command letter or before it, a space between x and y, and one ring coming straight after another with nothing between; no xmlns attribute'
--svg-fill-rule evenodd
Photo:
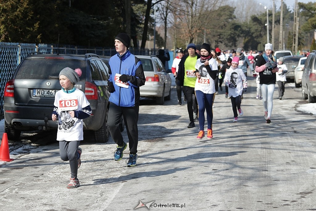
<svg viewBox="0 0 316 211"><path fill-rule="evenodd" d="M66 188L70 167L54 134L44 135L52 140L45 146L26 135L15 160L0 166L0 210L133 210L140 201L152 202L150 210L316 210L315 116L296 110L306 101L289 83L283 100L276 86L267 124L255 86L248 77L237 123L224 91L216 95L212 140L197 140L198 127L187 128L175 89L163 106L142 99L137 166L126 167L128 150L113 160L112 139L94 143L85 134L76 189Z"/></svg>

